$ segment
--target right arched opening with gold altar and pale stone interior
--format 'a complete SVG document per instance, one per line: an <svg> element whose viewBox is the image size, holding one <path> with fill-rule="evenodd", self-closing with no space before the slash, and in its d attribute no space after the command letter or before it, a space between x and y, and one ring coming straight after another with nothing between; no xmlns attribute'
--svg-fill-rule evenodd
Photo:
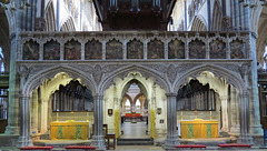
<svg viewBox="0 0 267 151"><path fill-rule="evenodd" d="M237 88L210 71L202 71L197 77L189 78L188 82L180 87L177 95L181 139L218 138L226 133L239 133L238 94ZM187 120L204 121L205 124L201 130L191 129L189 133L189 129L185 127ZM194 127L194 123L189 124Z"/></svg>

